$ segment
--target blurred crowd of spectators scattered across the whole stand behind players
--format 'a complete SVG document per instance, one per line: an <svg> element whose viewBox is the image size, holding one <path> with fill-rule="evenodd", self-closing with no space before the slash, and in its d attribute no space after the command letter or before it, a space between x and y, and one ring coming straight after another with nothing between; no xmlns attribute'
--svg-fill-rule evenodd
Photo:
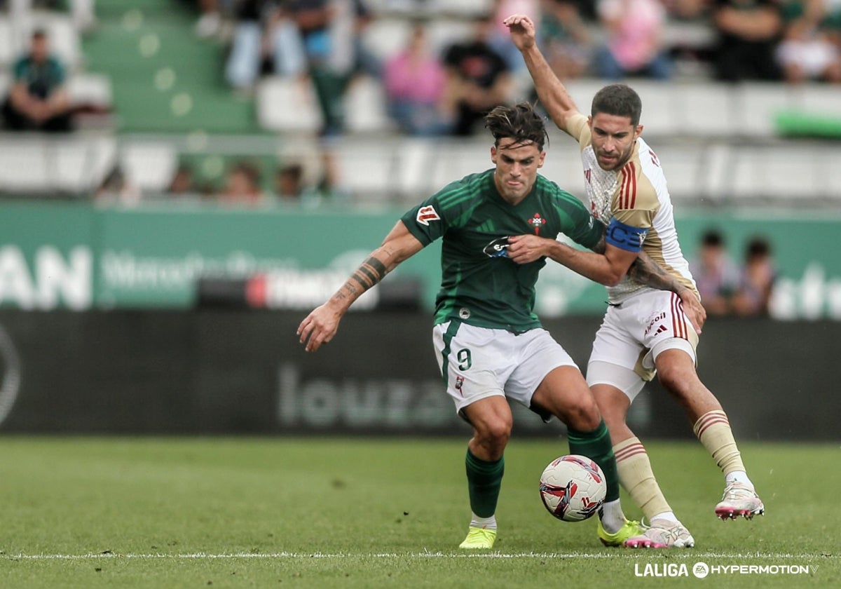
<svg viewBox="0 0 841 589"><path fill-rule="evenodd" d="M676 75L677 62L689 59L701 64L710 79L724 82L841 82L841 0L492 0L487 13L469 16L469 34L446 44L436 44L433 25L445 19L463 24L468 16L454 16L447 3L433 0L378 0L377 12L366 0L181 2L195 10L194 33L225 46L220 68L235 93L251 96L266 75L310 84L324 121L325 146L344 131L343 100L360 77L378 81L388 114L403 134L471 135L479 130L484 113L512 102L517 82L528 82L521 56L501 24L511 13L537 21L538 44L564 80L665 81ZM80 32L97 23L93 0L0 0L0 9L15 16L33 4L68 10ZM410 29L405 45L389 55L368 43L369 31L383 15L402 19ZM706 30L708 42L669 36L675 24ZM68 73L50 50L45 30L32 31L8 74L8 92L2 97L5 130L73 130ZM251 203L341 198L329 148L321 160L315 171L312 162L281 162L275 179L267 178L274 167L235 162L224 187L192 184L189 190ZM188 171L183 167L173 178L173 192L182 191ZM114 170L100 193L133 199L130 186L114 189L125 183L121 178Z"/></svg>

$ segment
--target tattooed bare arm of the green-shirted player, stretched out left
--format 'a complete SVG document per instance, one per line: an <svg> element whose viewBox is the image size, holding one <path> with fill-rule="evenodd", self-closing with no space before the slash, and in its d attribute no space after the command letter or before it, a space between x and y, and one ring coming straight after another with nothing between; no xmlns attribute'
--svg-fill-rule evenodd
<svg viewBox="0 0 841 589"><path fill-rule="evenodd" d="M398 264L423 249L421 241L413 236L403 221L385 236L383 245L371 252L359 265L341 289L324 305L313 310L298 326L300 342L307 352L315 352L322 343L330 342L339 329L339 321L362 293L378 284Z"/></svg>

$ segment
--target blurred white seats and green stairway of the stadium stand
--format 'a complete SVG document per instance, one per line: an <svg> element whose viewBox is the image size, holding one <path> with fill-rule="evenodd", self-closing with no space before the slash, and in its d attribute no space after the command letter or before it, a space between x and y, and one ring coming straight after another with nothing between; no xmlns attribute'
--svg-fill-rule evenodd
<svg viewBox="0 0 841 589"><path fill-rule="evenodd" d="M468 18L493 3L368 4L377 18L365 29L363 43L382 59L405 45L415 16L430 19L431 45L442 50L469 34ZM317 155L311 154L318 151L312 146L318 145L322 115L308 80L267 75L253 97L238 96L225 88L222 77L225 43L193 35L196 15L183 3L115 0L97 9L97 34L83 42L66 15L36 15L33 22L49 27L56 52L71 66L68 88L87 120L82 116L82 131L69 138L23 141L0 135L0 193L84 195L119 167L145 194L156 194L167 188L167 176L179 161L221 173L225 162L241 154L278 162L309 153L306 159L318 167ZM711 42L711 29L697 21L674 21L666 32L674 46ZM8 88L8 67L19 39L0 15L0 91ZM669 167L675 200L713 206L754 201L820 205L841 199L841 172L834 164L841 156L838 143L786 136L814 135L817 125L812 121L808 127L810 116L838 125L821 129L841 128L837 86L720 84L711 82L702 64L678 70L667 83L630 81L643 97L645 134ZM568 86L585 108L603 83L582 78ZM518 79L515 94L512 99L531 98L527 77ZM103 119L111 109L116 114ZM484 139L429 141L399 135L377 78L359 77L350 84L345 114L346 130L331 140L331 147L343 188L356 202L419 199L452 178L490 165ZM220 139L232 134L242 141ZM196 137L205 139L197 143L191 139ZM228 147L234 143L239 152ZM574 145L553 131L549 153L543 173L580 190ZM313 175L309 170L308 176Z"/></svg>

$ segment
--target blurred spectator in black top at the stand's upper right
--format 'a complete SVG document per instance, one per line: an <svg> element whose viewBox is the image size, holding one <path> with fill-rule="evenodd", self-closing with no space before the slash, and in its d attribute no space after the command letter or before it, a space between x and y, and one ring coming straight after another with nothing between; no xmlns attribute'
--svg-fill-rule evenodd
<svg viewBox="0 0 841 589"><path fill-rule="evenodd" d="M776 0L714 0L718 33L713 66L724 82L782 78L775 52L782 34Z"/></svg>

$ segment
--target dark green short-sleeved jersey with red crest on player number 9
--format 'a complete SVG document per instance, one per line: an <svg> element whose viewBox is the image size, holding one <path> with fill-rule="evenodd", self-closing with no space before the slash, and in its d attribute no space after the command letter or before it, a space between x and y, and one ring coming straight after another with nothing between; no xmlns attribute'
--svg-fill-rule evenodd
<svg viewBox="0 0 841 589"><path fill-rule="evenodd" d="M564 233L584 247L604 234L584 204L558 184L537 176L519 204L507 203L494 183L495 169L447 184L409 210L402 221L426 247L442 237L441 290L435 323L458 319L469 325L520 333L540 326L534 314L535 284L546 259L517 264L507 256L508 237Z"/></svg>

